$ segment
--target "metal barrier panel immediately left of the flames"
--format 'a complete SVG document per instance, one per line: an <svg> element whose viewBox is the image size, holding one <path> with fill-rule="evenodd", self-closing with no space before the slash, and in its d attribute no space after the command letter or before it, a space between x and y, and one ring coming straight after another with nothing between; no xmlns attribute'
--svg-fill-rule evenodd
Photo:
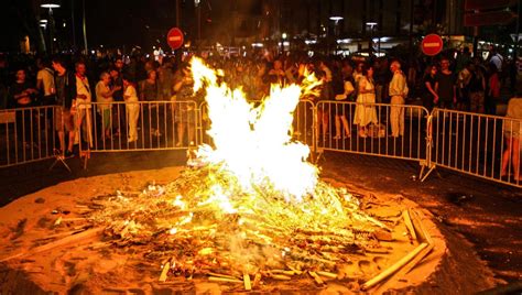
<svg viewBox="0 0 522 295"><path fill-rule="evenodd" d="M80 150L127 152L196 145L195 101L93 102L78 106Z"/></svg>

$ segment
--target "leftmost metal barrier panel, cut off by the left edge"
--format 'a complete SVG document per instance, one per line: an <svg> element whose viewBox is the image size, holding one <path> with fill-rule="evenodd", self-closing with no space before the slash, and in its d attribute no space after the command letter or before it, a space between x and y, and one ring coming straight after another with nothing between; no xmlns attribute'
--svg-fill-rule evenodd
<svg viewBox="0 0 522 295"><path fill-rule="evenodd" d="M54 106L0 110L0 167L53 157L55 112Z"/></svg>

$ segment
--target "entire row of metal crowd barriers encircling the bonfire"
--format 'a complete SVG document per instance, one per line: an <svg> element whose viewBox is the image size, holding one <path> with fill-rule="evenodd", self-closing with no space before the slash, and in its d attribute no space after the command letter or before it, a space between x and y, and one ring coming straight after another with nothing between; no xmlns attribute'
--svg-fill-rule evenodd
<svg viewBox="0 0 522 295"><path fill-rule="evenodd" d="M61 113L57 106L0 110L0 167L58 159L57 134L65 128L58 122ZM205 102L93 102L77 106L72 125L80 153L211 144L205 132L209 128ZM444 167L522 187L521 127L522 120L437 108L429 113L412 105L301 100L293 136L313 152L418 161L421 181Z"/></svg>

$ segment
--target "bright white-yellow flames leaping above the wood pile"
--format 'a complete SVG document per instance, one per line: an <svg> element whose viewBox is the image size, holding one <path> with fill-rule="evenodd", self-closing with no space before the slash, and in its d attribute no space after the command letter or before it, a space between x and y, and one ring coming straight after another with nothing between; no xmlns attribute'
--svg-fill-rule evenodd
<svg viewBox="0 0 522 295"><path fill-rule="evenodd" d="M253 192L252 184L268 183L286 200L301 201L314 190L318 172L306 162L309 149L291 141L293 111L303 91L300 86L274 85L270 96L254 108L241 89L218 84L216 72L202 59L192 59L192 73L195 91L206 86L211 121L208 134L215 144L214 149L199 149L204 163L224 164L248 192ZM306 86L316 85L313 76L307 81Z"/></svg>

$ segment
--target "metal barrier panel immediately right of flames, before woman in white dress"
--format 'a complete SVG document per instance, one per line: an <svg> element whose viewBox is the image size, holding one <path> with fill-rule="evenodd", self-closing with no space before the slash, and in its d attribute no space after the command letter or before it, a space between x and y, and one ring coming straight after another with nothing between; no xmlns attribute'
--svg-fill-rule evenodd
<svg viewBox="0 0 522 295"><path fill-rule="evenodd" d="M428 111L423 107L319 101L316 113L318 149L425 163Z"/></svg>

